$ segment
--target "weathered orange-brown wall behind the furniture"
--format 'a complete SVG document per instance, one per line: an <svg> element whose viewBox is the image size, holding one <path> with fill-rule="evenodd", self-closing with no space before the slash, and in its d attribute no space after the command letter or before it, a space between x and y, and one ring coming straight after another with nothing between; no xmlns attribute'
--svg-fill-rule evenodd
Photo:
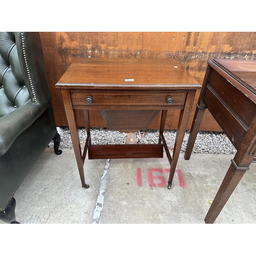
<svg viewBox="0 0 256 256"><path fill-rule="evenodd" d="M255 32L41 32L56 124L67 126L60 91L55 83L76 57L177 58L202 84L207 61L213 58L255 59ZM196 95L197 102L199 92ZM169 111L166 129L177 129L179 111ZM190 129L195 104L189 118ZM104 127L98 111L91 112L91 125ZM82 112L77 112L83 126ZM150 125L159 127L160 116ZM206 111L200 130L221 131Z"/></svg>

